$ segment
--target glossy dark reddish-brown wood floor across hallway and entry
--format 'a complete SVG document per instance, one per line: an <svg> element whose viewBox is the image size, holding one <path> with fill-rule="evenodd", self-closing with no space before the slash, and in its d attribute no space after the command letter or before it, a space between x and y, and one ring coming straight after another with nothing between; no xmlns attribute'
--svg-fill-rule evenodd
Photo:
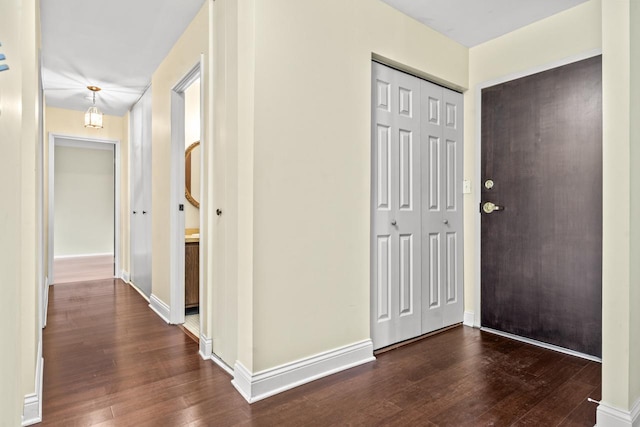
<svg viewBox="0 0 640 427"><path fill-rule="evenodd" d="M120 280L55 285L47 426L593 426L600 365L458 327L247 404Z"/></svg>

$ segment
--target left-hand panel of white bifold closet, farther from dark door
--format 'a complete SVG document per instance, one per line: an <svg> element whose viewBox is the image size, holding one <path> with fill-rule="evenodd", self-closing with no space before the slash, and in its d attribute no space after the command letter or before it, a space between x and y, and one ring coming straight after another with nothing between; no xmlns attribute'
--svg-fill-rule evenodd
<svg viewBox="0 0 640 427"><path fill-rule="evenodd" d="M373 64L372 334L421 333L420 81Z"/></svg>

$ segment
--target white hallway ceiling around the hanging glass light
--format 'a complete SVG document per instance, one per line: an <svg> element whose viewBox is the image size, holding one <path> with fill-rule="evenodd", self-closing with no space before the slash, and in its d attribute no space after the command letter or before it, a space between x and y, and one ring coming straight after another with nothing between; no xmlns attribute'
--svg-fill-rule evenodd
<svg viewBox="0 0 640 427"><path fill-rule="evenodd" d="M140 98L204 0L42 0L47 105L121 116Z"/></svg>

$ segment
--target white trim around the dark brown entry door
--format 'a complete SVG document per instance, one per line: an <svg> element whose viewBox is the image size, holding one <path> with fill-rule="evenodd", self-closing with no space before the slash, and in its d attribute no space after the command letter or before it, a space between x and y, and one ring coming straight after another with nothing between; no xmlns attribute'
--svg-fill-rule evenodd
<svg viewBox="0 0 640 427"><path fill-rule="evenodd" d="M477 206L480 206L481 203L481 193L480 186L482 181L482 89L486 89L491 86L495 86L501 83L506 83L511 80L516 80L522 77L530 76L532 74L540 73L542 71L551 70L553 68L562 67L563 65L571 64L574 62L582 61L584 59L592 58L594 56L602 55L602 49L591 49L586 52L582 52L576 55L569 56L567 58L563 58L557 61L548 62L546 64L537 65L535 67L528 68L526 70L518 71L515 73L510 73L492 80L484 81L476 87L476 129L475 129L475 147L476 147L476 186L475 186L475 197L474 197L474 205L472 206L471 211L475 212L475 235L476 235L476 245L474 249L474 258L476 262L475 272L474 272L474 314L473 314L473 326L475 328L480 328L480 280L481 280L481 239L482 239L482 230L481 230L481 214Z"/></svg>

